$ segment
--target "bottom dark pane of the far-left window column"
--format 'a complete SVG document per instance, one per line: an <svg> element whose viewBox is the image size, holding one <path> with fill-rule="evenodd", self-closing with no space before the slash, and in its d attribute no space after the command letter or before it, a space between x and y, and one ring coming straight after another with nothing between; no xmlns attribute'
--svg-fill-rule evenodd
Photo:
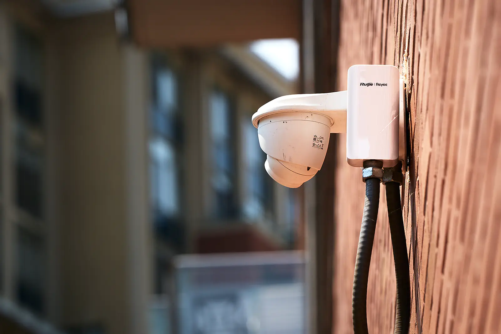
<svg viewBox="0 0 501 334"><path fill-rule="evenodd" d="M44 313L45 245L40 235L23 227L17 230L17 299L37 314Z"/></svg>

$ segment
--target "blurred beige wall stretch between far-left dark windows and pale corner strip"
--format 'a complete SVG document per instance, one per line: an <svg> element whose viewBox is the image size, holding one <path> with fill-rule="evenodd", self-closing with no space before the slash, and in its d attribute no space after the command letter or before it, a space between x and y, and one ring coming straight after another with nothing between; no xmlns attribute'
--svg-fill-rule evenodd
<svg viewBox="0 0 501 334"><path fill-rule="evenodd" d="M61 323L132 333L123 50L112 14L52 28L61 99Z"/></svg>

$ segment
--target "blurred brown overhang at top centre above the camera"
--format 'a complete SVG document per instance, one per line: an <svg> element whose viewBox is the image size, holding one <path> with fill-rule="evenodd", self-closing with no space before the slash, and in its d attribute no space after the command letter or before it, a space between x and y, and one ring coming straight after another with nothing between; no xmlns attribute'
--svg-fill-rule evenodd
<svg viewBox="0 0 501 334"><path fill-rule="evenodd" d="M301 36L300 0L129 0L129 29L149 48Z"/></svg>

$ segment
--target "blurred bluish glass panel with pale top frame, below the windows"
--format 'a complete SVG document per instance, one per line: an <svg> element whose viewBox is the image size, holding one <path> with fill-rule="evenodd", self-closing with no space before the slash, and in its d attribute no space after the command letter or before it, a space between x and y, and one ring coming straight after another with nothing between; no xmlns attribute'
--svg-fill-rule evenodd
<svg viewBox="0 0 501 334"><path fill-rule="evenodd" d="M304 270L297 252L178 256L178 332L304 334Z"/></svg>

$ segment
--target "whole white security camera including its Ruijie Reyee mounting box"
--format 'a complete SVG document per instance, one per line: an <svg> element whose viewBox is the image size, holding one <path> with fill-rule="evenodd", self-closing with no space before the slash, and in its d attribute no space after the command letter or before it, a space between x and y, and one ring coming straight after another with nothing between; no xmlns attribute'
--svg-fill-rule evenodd
<svg viewBox="0 0 501 334"><path fill-rule="evenodd" d="M330 134L346 132L350 165L362 167L365 160L396 165L399 87L394 66L354 65L347 91L287 95L263 105L252 121L267 154L266 171L278 183L297 188L322 168Z"/></svg>

